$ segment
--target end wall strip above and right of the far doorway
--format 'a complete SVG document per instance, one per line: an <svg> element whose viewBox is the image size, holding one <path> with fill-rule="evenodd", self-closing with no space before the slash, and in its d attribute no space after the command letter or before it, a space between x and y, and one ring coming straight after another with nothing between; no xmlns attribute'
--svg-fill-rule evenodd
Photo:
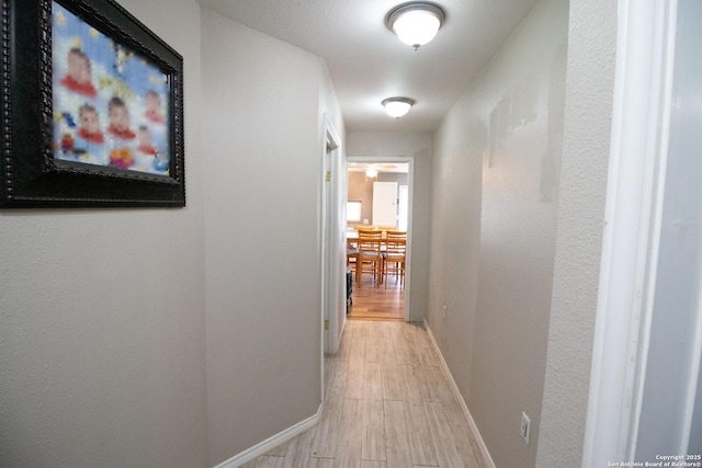
<svg viewBox="0 0 702 468"><path fill-rule="evenodd" d="M431 209L431 134L397 132L349 132L348 156L412 157L414 194L411 265L409 267L409 320L421 321L427 313L429 277L429 225Z"/></svg>

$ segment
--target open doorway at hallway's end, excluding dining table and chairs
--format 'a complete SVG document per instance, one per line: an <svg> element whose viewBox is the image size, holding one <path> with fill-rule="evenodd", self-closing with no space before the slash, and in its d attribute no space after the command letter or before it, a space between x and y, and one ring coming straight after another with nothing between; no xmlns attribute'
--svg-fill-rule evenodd
<svg viewBox="0 0 702 468"><path fill-rule="evenodd" d="M378 284L372 275L362 274L361 283L353 275L348 319L407 321L414 160L406 157L348 157L348 161L346 203L353 206L353 216L346 220L347 233L353 236L360 226L407 232L404 277L389 273L386 281Z"/></svg>

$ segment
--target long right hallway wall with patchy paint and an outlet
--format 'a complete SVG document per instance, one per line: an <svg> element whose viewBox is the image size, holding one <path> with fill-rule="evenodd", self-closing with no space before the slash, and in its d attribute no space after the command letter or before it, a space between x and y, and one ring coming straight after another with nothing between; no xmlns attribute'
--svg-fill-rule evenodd
<svg viewBox="0 0 702 468"><path fill-rule="evenodd" d="M433 139L427 319L498 467L536 459L567 25L567 2L536 4Z"/></svg>

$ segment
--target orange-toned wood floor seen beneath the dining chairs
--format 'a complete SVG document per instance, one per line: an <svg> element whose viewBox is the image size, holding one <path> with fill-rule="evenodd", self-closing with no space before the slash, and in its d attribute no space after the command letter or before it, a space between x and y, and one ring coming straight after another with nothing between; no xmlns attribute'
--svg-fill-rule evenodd
<svg viewBox="0 0 702 468"><path fill-rule="evenodd" d="M387 287L375 287L371 275L353 284L353 304L349 306L349 320L405 320L405 288L395 276L388 276Z"/></svg>

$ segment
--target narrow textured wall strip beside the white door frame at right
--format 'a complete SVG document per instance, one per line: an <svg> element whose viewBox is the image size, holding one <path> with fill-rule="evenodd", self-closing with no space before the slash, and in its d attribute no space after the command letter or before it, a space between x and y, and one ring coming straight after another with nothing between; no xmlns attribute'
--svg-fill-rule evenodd
<svg viewBox="0 0 702 468"><path fill-rule="evenodd" d="M614 89L616 2L570 0L561 204L536 466L580 466Z"/></svg>

